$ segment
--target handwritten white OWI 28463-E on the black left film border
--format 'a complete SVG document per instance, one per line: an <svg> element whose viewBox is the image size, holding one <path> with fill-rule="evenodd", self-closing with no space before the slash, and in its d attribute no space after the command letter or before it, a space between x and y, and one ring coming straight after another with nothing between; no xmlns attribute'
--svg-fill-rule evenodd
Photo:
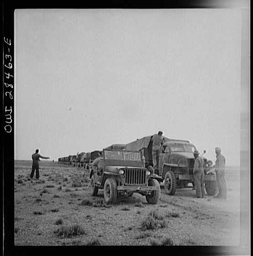
<svg viewBox="0 0 253 256"><path fill-rule="evenodd" d="M12 96L12 91L11 89L13 89L13 65L11 63L12 61L12 57L11 57L11 53L10 53L10 47L11 46L11 41L9 38L5 38L4 37L4 41L5 41L5 46L7 46L7 51L8 53L5 53L4 56L4 85L5 85L5 93L4 96L7 100L13 100L13 96ZM11 133L11 123L12 123L12 108L11 106L5 106L5 132L6 133Z"/></svg>

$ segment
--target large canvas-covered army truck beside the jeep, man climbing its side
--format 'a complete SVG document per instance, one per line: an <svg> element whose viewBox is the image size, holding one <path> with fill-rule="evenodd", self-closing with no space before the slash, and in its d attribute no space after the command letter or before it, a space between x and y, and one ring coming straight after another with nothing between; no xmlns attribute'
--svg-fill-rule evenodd
<svg viewBox="0 0 253 256"><path fill-rule="evenodd" d="M155 174L162 176L165 192L174 195L177 188L188 187L188 183L194 181L193 167L195 145L188 140L168 139L163 136L159 168ZM139 150L145 166L153 166L152 160L152 136L146 136L126 144L126 150ZM205 188L208 195L215 196L218 193L216 175L212 172L212 161L204 158Z"/></svg>

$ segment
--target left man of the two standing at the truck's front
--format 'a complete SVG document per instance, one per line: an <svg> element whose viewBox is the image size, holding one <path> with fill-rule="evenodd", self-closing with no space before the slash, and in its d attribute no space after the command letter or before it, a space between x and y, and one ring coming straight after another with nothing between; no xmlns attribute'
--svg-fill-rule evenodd
<svg viewBox="0 0 253 256"><path fill-rule="evenodd" d="M200 156L198 150L194 150L193 152L195 162L193 168L193 177L194 177L194 186L196 190L196 197L198 198L205 198L206 192L204 187L204 159Z"/></svg>

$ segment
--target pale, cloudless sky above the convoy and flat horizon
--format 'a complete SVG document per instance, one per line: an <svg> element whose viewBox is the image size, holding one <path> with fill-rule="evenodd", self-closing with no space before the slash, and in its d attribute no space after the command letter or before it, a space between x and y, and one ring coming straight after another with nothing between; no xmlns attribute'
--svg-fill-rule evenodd
<svg viewBox="0 0 253 256"><path fill-rule="evenodd" d="M163 131L240 165L241 11L16 10L15 159Z"/></svg>

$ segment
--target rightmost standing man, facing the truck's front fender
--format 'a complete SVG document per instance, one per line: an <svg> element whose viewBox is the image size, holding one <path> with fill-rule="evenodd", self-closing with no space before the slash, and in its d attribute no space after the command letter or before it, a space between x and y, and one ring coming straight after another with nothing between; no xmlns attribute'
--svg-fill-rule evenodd
<svg viewBox="0 0 253 256"><path fill-rule="evenodd" d="M216 179L219 186L219 193L217 194L217 198L227 199L227 184L225 181L225 163L226 159L221 154L221 148L215 148L216 161L215 161L215 173Z"/></svg>

